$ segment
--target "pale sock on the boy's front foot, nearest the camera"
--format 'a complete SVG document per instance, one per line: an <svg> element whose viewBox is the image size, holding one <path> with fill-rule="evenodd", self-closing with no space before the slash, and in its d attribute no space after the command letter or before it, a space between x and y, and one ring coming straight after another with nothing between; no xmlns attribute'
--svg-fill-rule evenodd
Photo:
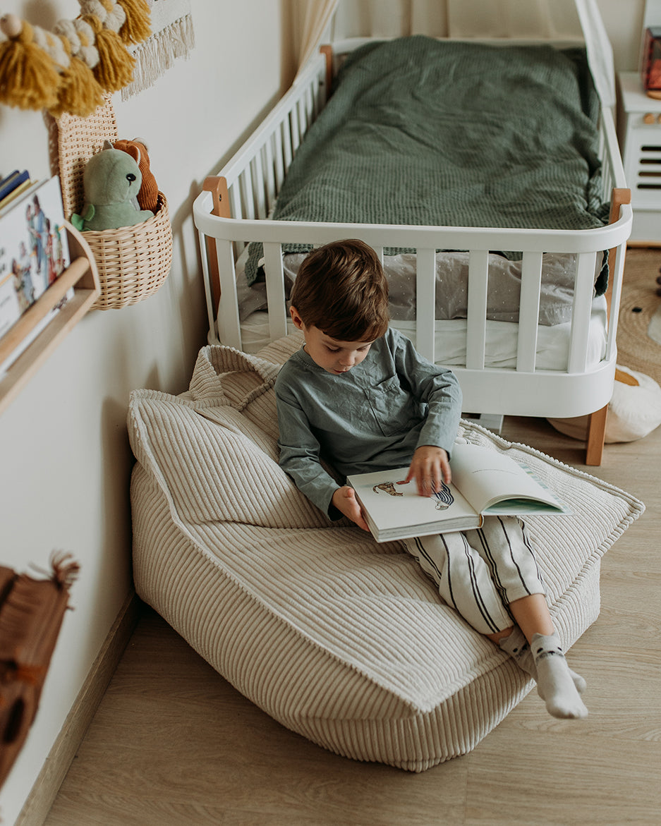
<svg viewBox="0 0 661 826"><path fill-rule="evenodd" d="M560 718L587 717L587 708L578 694L558 634L535 634L530 649L537 668L537 692L549 714ZM581 681L584 686L583 678Z"/></svg>

